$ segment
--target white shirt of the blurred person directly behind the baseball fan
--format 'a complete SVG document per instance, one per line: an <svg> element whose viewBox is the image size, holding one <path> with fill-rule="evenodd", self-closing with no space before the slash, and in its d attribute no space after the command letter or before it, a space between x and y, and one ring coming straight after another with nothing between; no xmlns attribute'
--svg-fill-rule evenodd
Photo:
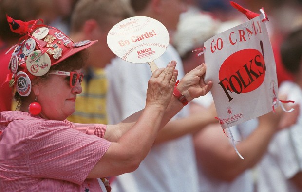
<svg viewBox="0 0 302 192"><path fill-rule="evenodd" d="M166 67L177 62L178 80L184 76L183 65L176 50L169 45L154 62ZM118 123L145 107L151 69L148 64L133 64L115 58L106 67L109 89L107 110L110 124ZM188 115L187 106L174 118ZM198 174L191 135L152 147L139 168L117 176L111 183L113 192L197 192Z"/></svg>

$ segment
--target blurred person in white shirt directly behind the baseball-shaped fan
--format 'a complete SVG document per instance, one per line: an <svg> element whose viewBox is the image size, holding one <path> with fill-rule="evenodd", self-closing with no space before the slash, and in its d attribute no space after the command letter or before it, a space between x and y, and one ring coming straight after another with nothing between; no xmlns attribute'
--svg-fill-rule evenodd
<svg viewBox="0 0 302 192"><path fill-rule="evenodd" d="M186 11L184 0L131 0L136 16L148 16L166 26L170 40L179 15ZM171 14L173 13L173 14ZM178 79L184 75L181 59L170 44L161 57L154 60L158 67L171 58L177 61ZM143 109L146 83L151 76L148 64L133 64L115 58L106 67L109 89L107 111L109 123L119 122L132 112ZM188 104L189 105L189 104ZM116 192L197 192L198 173L192 133L215 122L215 110L188 116L188 106L177 113L158 134L146 159L132 173L117 176L112 182Z"/></svg>

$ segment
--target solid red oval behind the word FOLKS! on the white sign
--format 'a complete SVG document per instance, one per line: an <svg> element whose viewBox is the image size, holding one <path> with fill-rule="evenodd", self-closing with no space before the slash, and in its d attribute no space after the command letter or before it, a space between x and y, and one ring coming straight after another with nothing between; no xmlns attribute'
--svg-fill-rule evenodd
<svg viewBox="0 0 302 192"><path fill-rule="evenodd" d="M219 84L235 93L248 93L264 81L265 62L260 51L244 49L230 55L219 69Z"/></svg>

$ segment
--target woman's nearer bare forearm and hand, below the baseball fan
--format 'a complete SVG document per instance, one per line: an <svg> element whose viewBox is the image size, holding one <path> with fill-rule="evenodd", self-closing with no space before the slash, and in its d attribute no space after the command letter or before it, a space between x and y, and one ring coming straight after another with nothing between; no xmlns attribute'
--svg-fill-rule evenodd
<svg viewBox="0 0 302 192"><path fill-rule="evenodd" d="M116 126L122 136L113 142L97 162L88 178L119 175L134 171L148 154L160 128L165 110L170 102L178 71L176 62L165 69L158 69L148 82L146 107ZM108 133L106 133L108 135ZM105 134L105 138L108 137ZM110 137L110 135L109 135Z"/></svg>

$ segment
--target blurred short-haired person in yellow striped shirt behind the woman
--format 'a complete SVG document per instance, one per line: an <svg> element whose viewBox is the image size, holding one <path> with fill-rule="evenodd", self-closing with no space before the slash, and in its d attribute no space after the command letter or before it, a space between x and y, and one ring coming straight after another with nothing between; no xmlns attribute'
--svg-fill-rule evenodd
<svg viewBox="0 0 302 192"><path fill-rule="evenodd" d="M98 40L88 48L89 58L82 83L83 92L78 95L76 112L68 120L77 123L107 123L106 64L115 57L107 45L109 30L119 21L131 17L133 10L124 0L78 0L71 19L71 38Z"/></svg>

